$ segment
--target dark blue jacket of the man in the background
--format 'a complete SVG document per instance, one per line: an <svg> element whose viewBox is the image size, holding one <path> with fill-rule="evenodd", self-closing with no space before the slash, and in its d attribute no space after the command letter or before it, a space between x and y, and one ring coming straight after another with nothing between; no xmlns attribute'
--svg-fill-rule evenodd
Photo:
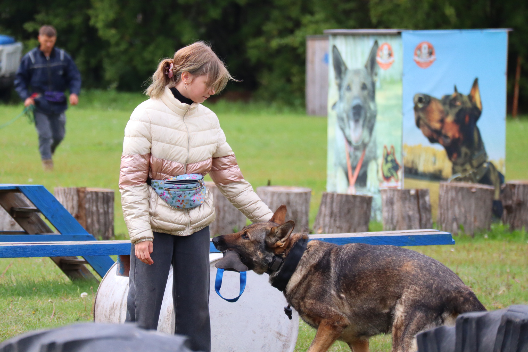
<svg viewBox="0 0 528 352"><path fill-rule="evenodd" d="M79 94L81 74L64 50L54 47L49 58L46 58L40 48L35 47L23 56L14 83L22 100L29 98L32 93L41 94L40 98L35 99L37 110L48 114L61 113L68 107L66 97L63 101L49 101L44 98L44 93L69 89L70 94Z"/></svg>

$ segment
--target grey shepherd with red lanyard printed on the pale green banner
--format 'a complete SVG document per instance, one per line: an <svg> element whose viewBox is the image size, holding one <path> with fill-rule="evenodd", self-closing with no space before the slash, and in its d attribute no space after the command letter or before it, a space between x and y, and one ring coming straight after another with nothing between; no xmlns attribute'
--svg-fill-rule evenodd
<svg viewBox="0 0 528 352"><path fill-rule="evenodd" d="M332 61L339 99L332 107L337 114L337 124L346 140L346 164L342 161L347 176L349 193L354 187L364 188L367 184L369 163L376 160L376 140L373 135L376 123L375 85L378 76L376 52L378 41L374 42L365 66L350 69L334 45ZM354 172L359 165L359 170ZM377 167L376 167L377 168ZM354 177L353 174L356 174Z"/></svg>

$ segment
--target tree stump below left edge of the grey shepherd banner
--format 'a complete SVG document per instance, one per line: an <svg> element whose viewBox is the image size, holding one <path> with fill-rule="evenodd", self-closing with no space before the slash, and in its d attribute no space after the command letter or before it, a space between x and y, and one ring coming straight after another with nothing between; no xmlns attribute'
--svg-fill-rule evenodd
<svg viewBox="0 0 528 352"><path fill-rule="evenodd" d="M372 197L323 193L314 223L314 232L350 233L369 231Z"/></svg>

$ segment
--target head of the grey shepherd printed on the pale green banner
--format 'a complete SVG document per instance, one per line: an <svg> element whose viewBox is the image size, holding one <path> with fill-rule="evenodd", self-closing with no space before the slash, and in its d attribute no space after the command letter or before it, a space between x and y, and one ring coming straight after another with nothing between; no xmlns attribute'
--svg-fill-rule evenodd
<svg viewBox="0 0 528 352"><path fill-rule="evenodd" d="M377 51L378 41L375 41L365 66L351 70L337 47L332 47L335 81L339 89L339 100L333 108L337 112L338 125L351 146L364 148L370 142L376 122Z"/></svg>

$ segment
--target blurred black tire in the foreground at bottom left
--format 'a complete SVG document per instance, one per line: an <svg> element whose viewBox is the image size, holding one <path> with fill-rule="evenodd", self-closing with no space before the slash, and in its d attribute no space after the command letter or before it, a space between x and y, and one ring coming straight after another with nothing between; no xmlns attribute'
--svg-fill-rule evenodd
<svg viewBox="0 0 528 352"><path fill-rule="evenodd" d="M187 338L134 324L84 323L31 331L0 344L0 352L191 352Z"/></svg>

